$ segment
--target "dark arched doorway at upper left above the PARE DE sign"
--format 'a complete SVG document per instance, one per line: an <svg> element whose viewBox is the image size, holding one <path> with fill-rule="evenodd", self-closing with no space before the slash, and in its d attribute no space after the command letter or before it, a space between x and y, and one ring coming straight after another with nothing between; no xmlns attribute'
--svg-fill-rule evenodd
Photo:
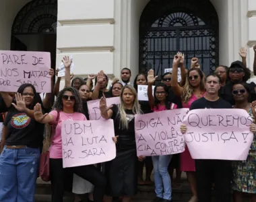
<svg viewBox="0 0 256 202"><path fill-rule="evenodd" d="M57 0L32 0L16 15L11 29L11 50L51 53L55 68Z"/></svg>

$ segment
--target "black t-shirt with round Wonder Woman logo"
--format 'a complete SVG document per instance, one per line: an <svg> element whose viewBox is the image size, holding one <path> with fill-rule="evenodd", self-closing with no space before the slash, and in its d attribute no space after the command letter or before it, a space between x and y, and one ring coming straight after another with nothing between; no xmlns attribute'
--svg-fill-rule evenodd
<svg viewBox="0 0 256 202"><path fill-rule="evenodd" d="M42 146L44 125L31 119L24 112L9 108L5 122L9 131L5 138L6 145L26 145L32 148Z"/></svg>

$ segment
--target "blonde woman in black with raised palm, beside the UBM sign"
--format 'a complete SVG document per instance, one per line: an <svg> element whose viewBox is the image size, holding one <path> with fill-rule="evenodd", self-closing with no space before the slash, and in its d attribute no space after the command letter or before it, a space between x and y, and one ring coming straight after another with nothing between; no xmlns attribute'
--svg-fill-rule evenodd
<svg viewBox="0 0 256 202"><path fill-rule="evenodd" d="M122 197L123 202L131 201L137 194L137 155L135 144L134 118L141 114L137 92L132 86L124 86L120 96L121 104L106 106L104 96L100 99L100 113L104 119L113 119L117 139L117 157L106 162L107 180L105 202L113 197ZM142 158L139 158L142 159Z"/></svg>

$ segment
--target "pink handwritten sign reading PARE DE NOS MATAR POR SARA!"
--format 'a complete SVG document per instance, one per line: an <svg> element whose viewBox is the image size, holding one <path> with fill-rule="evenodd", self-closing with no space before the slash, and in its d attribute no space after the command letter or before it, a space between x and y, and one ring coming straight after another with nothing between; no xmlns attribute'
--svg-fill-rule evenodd
<svg viewBox="0 0 256 202"><path fill-rule="evenodd" d="M17 92L31 83L36 92L51 92L51 55L46 52L0 50L0 87L4 92Z"/></svg>

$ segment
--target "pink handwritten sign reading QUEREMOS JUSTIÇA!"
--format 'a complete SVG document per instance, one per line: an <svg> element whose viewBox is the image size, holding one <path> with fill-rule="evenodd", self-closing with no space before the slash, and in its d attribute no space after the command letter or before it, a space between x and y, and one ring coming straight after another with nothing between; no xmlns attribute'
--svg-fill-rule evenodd
<svg viewBox="0 0 256 202"><path fill-rule="evenodd" d="M247 159L253 122L245 110L191 110L183 123L187 125L185 140L193 159Z"/></svg>

